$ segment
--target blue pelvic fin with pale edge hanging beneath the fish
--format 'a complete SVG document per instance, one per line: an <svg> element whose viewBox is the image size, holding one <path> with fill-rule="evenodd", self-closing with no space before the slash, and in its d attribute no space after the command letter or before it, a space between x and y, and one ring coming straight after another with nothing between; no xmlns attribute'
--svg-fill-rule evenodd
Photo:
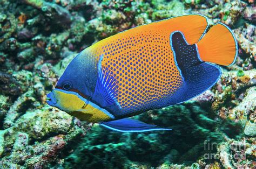
<svg viewBox="0 0 256 169"><path fill-rule="evenodd" d="M137 119L131 118L123 118L110 122L100 122L99 125L102 125L107 129L119 132L146 132L154 130L172 130L159 128L156 125L146 124L138 121Z"/></svg>

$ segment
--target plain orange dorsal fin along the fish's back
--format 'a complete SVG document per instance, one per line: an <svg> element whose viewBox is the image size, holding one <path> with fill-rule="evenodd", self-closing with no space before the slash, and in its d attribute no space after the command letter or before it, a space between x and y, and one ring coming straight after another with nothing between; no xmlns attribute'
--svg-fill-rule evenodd
<svg viewBox="0 0 256 169"><path fill-rule="evenodd" d="M143 34L147 31L165 31L170 34L173 31L181 31L186 36L186 40L190 44L197 43L201 37L203 37L208 27L207 17L200 14L182 15L171 17L150 24L140 25L133 27L130 30L126 30L115 34L111 37L100 40L95 45L92 45L91 50L97 51L98 46L105 46L109 44L109 41L116 41L118 39L127 38L133 34Z"/></svg>

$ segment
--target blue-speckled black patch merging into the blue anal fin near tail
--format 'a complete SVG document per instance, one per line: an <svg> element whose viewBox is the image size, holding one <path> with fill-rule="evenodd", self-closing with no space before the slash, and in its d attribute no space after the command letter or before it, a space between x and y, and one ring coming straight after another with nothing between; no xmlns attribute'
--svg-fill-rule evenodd
<svg viewBox="0 0 256 169"><path fill-rule="evenodd" d="M170 98L170 104L177 104L190 100L211 88L220 78L221 69L201 61L197 45L187 44L181 32L173 32L170 42L176 64L185 82Z"/></svg>

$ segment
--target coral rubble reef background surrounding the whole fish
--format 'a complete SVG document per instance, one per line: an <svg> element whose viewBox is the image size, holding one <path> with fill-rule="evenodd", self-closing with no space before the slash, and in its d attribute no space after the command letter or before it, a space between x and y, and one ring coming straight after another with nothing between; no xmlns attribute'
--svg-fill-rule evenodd
<svg viewBox="0 0 256 169"><path fill-rule="evenodd" d="M253 168L256 7L248 1L0 1L1 168ZM77 53L131 27L200 13L230 26L236 63L191 101L139 115L171 132L120 133L46 104Z"/></svg>

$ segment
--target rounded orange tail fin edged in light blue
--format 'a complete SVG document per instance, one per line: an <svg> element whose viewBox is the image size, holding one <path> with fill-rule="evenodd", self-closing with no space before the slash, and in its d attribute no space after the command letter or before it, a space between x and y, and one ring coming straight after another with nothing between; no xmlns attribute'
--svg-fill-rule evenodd
<svg viewBox="0 0 256 169"><path fill-rule="evenodd" d="M232 31L217 23L198 42L200 59L214 64L230 66L237 57L238 45Z"/></svg>

